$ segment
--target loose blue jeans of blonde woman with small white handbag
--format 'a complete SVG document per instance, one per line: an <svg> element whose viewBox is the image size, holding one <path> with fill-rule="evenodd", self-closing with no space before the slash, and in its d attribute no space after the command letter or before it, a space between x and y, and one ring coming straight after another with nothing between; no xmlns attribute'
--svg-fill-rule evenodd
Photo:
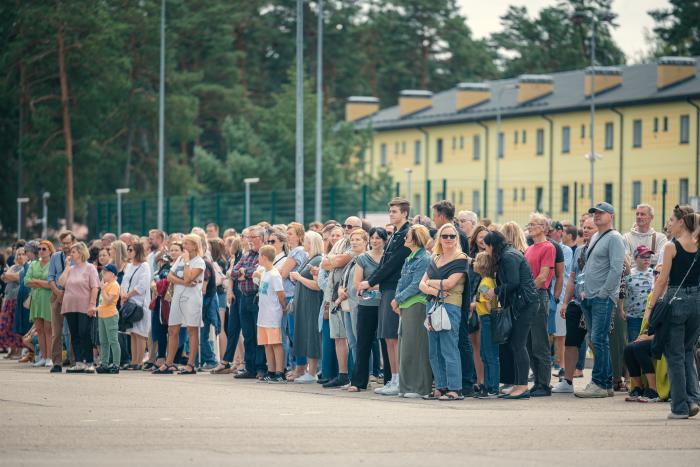
<svg viewBox="0 0 700 467"><path fill-rule="evenodd" d="M447 316L452 329L449 331L428 331L428 356L435 378L435 389L450 391L462 390L462 362L459 355L459 323L462 309L445 303ZM471 348L471 346L470 346Z"/></svg>

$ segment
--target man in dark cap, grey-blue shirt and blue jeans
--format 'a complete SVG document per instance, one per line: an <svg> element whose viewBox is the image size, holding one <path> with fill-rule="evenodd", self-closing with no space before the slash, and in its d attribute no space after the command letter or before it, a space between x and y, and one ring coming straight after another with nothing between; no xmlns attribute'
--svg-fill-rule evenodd
<svg viewBox="0 0 700 467"><path fill-rule="evenodd" d="M598 203L588 210L598 229L586 251L584 300L581 303L586 326L593 345L593 377L576 397L612 397L613 377L610 357L610 322L620 294L620 279L625 261L625 242L613 229L615 209L609 203Z"/></svg>

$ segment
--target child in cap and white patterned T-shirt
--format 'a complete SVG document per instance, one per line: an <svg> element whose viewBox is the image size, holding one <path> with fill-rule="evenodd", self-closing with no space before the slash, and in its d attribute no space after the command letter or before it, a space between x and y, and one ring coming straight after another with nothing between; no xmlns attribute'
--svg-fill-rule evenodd
<svg viewBox="0 0 700 467"><path fill-rule="evenodd" d="M625 277L627 297L625 316L627 320L627 342L639 336L642 318L647 306L647 296L654 285L654 272L651 269L652 251L646 245L639 245L634 251L634 267Z"/></svg>

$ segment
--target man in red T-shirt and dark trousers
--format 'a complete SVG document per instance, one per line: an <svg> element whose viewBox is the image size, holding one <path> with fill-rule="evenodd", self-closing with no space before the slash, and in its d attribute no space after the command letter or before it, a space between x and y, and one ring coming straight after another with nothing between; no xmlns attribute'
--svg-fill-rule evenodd
<svg viewBox="0 0 700 467"><path fill-rule="evenodd" d="M556 250L547 239L547 229L548 222L545 216L539 213L530 215L527 230L534 243L525 251L525 258L530 265L538 297L538 308L532 319L530 338L528 339L530 366L535 375L535 385L530 389L532 397L552 395L549 386L552 377L552 363L547 320L549 317L549 286L554 277Z"/></svg>

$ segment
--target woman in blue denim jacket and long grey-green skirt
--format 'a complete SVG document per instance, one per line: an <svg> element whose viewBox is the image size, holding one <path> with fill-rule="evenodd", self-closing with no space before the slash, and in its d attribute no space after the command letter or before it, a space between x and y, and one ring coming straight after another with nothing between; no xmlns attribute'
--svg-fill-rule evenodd
<svg viewBox="0 0 700 467"><path fill-rule="evenodd" d="M430 393L433 372L428 358L428 333L423 326L427 298L418 288L430 262L425 251L430 241L430 231L416 224L406 234L404 245L411 254L401 268L401 278L391 307L399 321L399 395L420 398Z"/></svg>

